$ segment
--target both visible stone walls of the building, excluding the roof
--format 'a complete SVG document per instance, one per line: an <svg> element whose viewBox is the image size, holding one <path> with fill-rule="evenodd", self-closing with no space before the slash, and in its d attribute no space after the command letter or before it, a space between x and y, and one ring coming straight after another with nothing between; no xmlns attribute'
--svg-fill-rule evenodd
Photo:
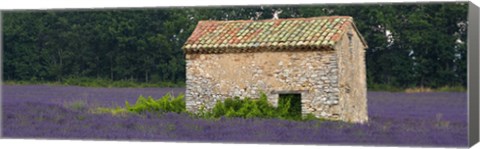
<svg viewBox="0 0 480 149"><path fill-rule="evenodd" d="M299 93L303 115L367 122L366 46L354 26L343 29L330 49L186 53L187 110L261 92L277 106L279 94Z"/></svg>

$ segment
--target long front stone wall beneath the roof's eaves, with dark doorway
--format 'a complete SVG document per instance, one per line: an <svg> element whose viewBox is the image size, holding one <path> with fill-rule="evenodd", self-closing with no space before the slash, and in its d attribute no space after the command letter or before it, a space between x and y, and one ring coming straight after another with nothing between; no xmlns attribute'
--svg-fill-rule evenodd
<svg viewBox="0 0 480 149"><path fill-rule="evenodd" d="M336 51L187 54L187 110L211 109L228 97L260 92L277 106L278 92L302 95L302 113L339 119Z"/></svg>

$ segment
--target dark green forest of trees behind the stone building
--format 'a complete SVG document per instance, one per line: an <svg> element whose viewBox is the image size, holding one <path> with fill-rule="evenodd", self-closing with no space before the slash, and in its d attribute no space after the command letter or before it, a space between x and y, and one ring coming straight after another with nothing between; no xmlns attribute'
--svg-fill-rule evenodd
<svg viewBox="0 0 480 149"><path fill-rule="evenodd" d="M279 18L352 16L368 44L369 87L466 87L465 2L6 11L2 77L182 86L181 48L199 20L271 19L279 10Z"/></svg>

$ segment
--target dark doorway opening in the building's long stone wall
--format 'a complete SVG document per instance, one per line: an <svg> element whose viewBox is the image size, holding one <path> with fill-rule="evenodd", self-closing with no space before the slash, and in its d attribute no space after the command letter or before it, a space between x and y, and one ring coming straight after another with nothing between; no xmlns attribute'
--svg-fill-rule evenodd
<svg viewBox="0 0 480 149"><path fill-rule="evenodd" d="M278 107L287 108L288 107L288 117L290 118L301 118L302 117L302 95L301 94L279 94Z"/></svg>

